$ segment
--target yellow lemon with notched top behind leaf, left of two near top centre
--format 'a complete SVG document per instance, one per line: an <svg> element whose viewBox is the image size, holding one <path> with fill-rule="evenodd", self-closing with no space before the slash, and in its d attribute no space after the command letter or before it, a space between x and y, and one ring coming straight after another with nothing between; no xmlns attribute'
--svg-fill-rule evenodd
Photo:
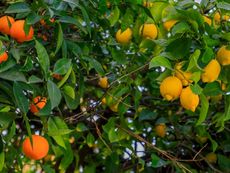
<svg viewBox="0 0 230 173"><path fill-rule="evenodd" d="M118 43L129 43L129 41L132 39L132 30L130 28L127 28L125 31L121 31L119 29L116 33L116 40Z"/></svg>

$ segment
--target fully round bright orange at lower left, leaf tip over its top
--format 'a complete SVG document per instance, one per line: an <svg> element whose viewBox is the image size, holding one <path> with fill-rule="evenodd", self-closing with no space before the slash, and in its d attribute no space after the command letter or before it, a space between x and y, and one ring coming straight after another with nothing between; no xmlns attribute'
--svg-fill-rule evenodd
<svg viewBox="0 0 230 173"><path fill-rule="evenodd" d="M39 135L32 135L32 144L27 137L22 144L22 151L26 157L33 160L44 158L49 151L49 143L46 138Z"/></svg>

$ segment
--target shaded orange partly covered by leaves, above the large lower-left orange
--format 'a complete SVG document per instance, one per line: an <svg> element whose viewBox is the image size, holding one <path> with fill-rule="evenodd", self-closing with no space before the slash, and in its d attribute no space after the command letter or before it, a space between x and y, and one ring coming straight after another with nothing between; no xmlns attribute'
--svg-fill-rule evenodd
<svg viewBox="0 0 230 173"><path fill-rule="evenodd" d="M30 105L30 112L36 114L46 105L46 98L37 96L33 99L33 103Z"/></svg>

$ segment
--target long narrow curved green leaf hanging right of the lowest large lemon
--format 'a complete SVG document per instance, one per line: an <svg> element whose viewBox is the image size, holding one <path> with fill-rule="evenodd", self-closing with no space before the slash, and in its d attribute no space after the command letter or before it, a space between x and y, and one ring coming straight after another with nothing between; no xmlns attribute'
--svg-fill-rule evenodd
<svg viewBox="0 0 230 173"><path fill-rule="evenodd" d="M196 123L197 126L201 125L205 121L206 116L208 114L208 108L209 108L208 99L203 93L200 94L200 101L201 101L201 109L200 109L199 119Z"/></svg>

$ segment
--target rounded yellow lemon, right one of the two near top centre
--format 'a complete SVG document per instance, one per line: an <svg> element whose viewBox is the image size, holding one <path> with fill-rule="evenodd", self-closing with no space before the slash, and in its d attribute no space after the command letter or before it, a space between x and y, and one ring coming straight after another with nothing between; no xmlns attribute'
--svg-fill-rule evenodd
<svg viewBox="0 0 230 173"><path fill-rule="evenodd" d="M140 27L140 35L144 38L157 38L157 27L153 23L146 23Z"/></svg>

